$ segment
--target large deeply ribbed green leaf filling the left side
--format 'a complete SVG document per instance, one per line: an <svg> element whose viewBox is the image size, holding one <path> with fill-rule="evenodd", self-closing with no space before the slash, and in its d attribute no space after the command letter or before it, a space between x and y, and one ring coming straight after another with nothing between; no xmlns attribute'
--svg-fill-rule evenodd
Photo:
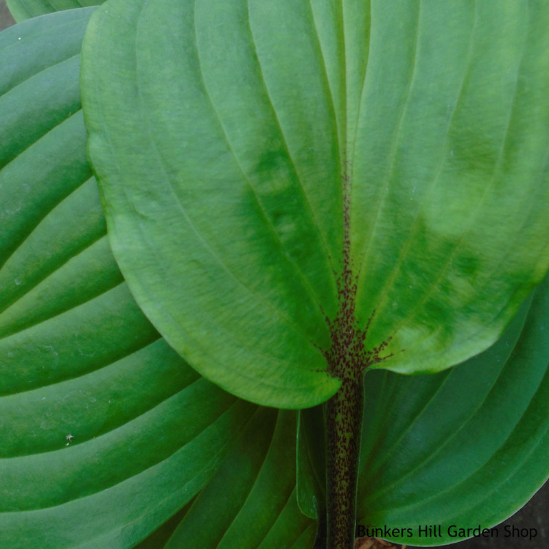
<svg viewBox="0 0 549 549"><path fill-rule="evenodd" d="M135 546L207 484L257 410L168 347L110 253L78 91L92 11L0 33L0 546L10 549Z"/></svg>

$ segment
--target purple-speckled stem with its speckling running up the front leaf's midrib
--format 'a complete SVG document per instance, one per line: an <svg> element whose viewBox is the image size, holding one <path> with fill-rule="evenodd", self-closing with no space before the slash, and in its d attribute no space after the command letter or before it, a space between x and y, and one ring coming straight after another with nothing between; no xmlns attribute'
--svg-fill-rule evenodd
<svg viewBox="0 0 549 549"><path fill-rule="evenodd" d="M342 264L337 277L339 311L326 318L331 346L325 351L328 372L341 380L336 395L326 404L326 549L353 549L355 539L356 492L360 460L360 434L364 406L364 372L381 362L390 338L366 349L366 334L375 314L360 327L355 316L357 274L351 260L351 165L344 163ZM334 272L335 274L335 272ZM390 356L390 355L388 355Z"/></svg>

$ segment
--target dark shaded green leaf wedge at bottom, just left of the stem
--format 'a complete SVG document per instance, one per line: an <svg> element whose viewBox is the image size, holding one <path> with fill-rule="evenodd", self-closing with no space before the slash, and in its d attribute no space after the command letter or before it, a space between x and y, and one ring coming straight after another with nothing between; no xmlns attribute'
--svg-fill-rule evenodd
<svg viewBox="0 0 549 549"><path fill-rule="evenodd" d="M310 549L316 525L297 507L295 437L295 412L259 408L174 533L155 549Z"/></svg>

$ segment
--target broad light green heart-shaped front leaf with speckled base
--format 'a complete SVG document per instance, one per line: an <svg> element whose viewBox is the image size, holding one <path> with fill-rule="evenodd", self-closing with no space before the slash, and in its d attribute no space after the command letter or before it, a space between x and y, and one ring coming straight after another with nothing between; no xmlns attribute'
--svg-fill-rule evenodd
<svg viewBox="0 0 549 549"><path fill-rule="evenodd" d="M548 266L548 29L546 1L110 0L82 100L140 307L269 406L489 347Z"/></svg>

